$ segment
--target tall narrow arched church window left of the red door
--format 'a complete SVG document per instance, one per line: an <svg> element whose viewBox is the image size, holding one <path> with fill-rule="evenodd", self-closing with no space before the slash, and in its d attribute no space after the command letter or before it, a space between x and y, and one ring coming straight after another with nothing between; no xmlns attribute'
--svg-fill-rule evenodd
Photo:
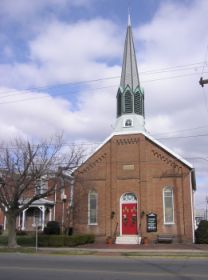
<svg viewBox="0 0 208 280"><path fill-rule="evenodd" d="M98 194L91 191L88 194L88 224L97 225L97 200Z"/></svg>

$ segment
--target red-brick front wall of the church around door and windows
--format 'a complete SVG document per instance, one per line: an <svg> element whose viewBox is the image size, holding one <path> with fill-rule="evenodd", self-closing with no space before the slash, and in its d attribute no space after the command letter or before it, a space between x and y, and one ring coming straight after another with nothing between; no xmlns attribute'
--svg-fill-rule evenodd
<svg viewBox="0 0 208 280"><path fill-rule="evenodd" d="M138 198L140 231L149 239L174 234L192 242L190 170L142 134L113 136L76 171L74 228L98 236L120 234L120 197L133 192ZM173 225L163 222L163 188L173 188ZM98 193L98 225L88 225L88 193ZM113 218L111 213L115 212ZM145 215L141 218L140 214ZM146 231L146 214L157 214L156 233Z"/></svg>

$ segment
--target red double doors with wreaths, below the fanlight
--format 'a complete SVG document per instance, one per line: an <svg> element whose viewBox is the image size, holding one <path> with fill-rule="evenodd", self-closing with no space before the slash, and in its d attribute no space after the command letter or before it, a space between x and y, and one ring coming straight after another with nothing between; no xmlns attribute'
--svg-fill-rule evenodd
<svg viewBox="0 0 208 280"><path fill-rule="evenodd" d="M122 204L122 234L138 234L137 203Z"/></svg>

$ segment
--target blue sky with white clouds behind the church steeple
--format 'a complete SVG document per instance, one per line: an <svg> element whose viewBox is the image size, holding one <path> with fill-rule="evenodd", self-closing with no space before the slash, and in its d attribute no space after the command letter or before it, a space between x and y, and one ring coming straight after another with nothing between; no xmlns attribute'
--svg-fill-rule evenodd
<svg viewBox="0 0 208 280"><path fill-rule="evenodd" d="M1 140L64 131L68 142L94 145L110 135L127 2L0 1ZM198 81L208 76L208 1L131 0L130 9L146 128L194 165L203 205L208 86Z"/></svg>

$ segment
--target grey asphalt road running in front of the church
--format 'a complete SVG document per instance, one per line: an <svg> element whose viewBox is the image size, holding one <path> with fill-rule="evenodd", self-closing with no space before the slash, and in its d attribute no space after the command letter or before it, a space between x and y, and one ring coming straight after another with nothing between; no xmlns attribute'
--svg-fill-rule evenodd
<svg viewBox="0 0 208 280"><path fill-rule="evenodd" d="M0 254L0 280L208 279L208 259Z"/></svg>

